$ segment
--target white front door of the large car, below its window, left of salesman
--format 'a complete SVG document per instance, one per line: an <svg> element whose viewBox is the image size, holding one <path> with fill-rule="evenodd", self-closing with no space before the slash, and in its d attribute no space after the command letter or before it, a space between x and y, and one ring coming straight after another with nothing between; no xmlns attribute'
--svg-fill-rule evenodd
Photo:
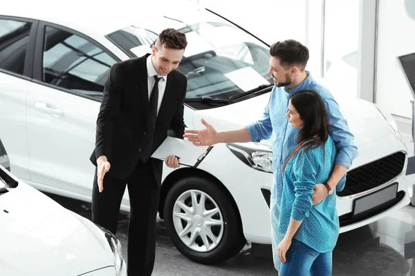
<svg viewBox="0 0 415 276"><path fill-rule="evenodd" d="M99 110L97 101L33 83L27 99L31 182L91 196L89 156Z"/></svg>

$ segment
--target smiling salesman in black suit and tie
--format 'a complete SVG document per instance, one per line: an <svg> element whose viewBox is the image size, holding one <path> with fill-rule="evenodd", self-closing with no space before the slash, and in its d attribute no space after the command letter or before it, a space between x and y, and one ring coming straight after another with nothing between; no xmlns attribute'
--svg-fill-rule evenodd
<svg viewBox="0 0 415 276"><path fill-rule="evenodd" d="M128 185L129 276L151 275L156 250L156 215L163 161L150 156L167 137L183 137L187 79L175 69L187 46L185 34L160 32L151 54L114 64L104 86L97 120L97 167L93 181L92 219L116 233L118 213ZM169 155L165 164L177 168Z"/></svg>

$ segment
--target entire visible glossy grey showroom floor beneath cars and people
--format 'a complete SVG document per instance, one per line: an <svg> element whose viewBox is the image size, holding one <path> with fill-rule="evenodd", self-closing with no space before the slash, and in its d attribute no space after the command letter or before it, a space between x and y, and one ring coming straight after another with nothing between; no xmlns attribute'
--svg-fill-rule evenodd
<svg viewBox="0 0 415 276"><path fill-rule="evenodd" d="M48 194L49 195L49 194ZM90 204L49 195L62 206L91 219ZM277 275L269 245L246 246L239 255L216 266L204 266L178 253L158 221L155 276ZM117 236L127 256L128 217L120 215ZM415 276L415 207L405 206L374 224L340 235L333 253L333 275Z"/></svg>

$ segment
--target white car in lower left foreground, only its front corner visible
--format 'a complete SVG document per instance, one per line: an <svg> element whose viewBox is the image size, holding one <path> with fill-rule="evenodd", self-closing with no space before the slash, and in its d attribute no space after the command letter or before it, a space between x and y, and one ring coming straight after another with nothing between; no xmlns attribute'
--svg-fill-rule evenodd
<svg viewBox="0 0 415 276"><path fill-rule="evenodd" d="M0 275L126 276L120 241L0 166Z"/></svg>

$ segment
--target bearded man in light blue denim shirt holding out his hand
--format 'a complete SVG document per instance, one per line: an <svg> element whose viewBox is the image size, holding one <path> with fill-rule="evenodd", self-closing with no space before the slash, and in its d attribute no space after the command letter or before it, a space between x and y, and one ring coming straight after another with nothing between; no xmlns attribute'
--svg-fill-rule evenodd
<svg viewBox="0 0 415 276"><path fill-rule="evenodd" d="M196 146L207 146L217 143L234 143L260 141L271 139L273 143L273 172L274 181L271 188L270 212L273 228L273 252L275 268L279 270L280 261L277 255L277 246L284 235L277 233L279 220L279 206L282 198L282 166L284 161L297 145L298 128L288 124L286 112L288 99L293 92L304 89L317 91L324 101L329 115L329 131L335 141L338 154L335 158L335 167L329 179L323 184L316 184L313 194L313 204L318 204L330 190L335 189L340 179L351 167L353 159L358 155L354 145L353 135L344 119L338 103L331 92L317 83L310 73L305 70L308 61L308 48L288 39L279 41L270 47L270 70L268 74L274 78L270 101L264 110L263 117L239 130L217 132L210 124L202 119L206 126L203 130L185 130L184 137ZM340 83L339 83L340 84Z"/></svg>

